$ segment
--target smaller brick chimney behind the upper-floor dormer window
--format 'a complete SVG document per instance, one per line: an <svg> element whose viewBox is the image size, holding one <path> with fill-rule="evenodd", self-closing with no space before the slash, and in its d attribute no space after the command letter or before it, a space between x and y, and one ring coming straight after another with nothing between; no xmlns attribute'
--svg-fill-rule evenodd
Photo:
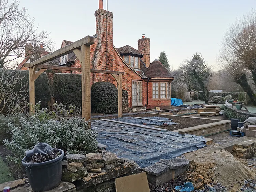
<svg viewBox="0 0 256 192"><path fill-rule="evenodd" d="M143 53L141 60L145 63L146 67L150 65L150 38L145 38L145 35L142 35L142 38L138 40L138 50Z"/></svg>

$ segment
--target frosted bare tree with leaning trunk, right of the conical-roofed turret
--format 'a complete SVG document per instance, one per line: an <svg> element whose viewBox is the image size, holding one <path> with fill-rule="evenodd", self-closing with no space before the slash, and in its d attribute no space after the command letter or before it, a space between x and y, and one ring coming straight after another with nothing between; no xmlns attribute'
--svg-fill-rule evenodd
<svg viewBox="0 0 256 192"><path fill-rule="evenodd" d="M211 77L211 68L205 63L201 54L196 53L180 65L175 81L184 83L188 89L198 92L204 98L205 103L209 104L207 86Z"/></svg>

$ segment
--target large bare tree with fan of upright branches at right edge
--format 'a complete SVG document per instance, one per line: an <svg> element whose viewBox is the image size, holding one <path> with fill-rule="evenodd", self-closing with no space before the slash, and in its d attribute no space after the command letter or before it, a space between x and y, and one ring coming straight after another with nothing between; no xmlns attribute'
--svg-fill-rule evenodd
<svg viewBox="0 0 256 192"><path fill-rule="evenodd" d="M237 18L224 35L218 63L256 105L256 11ZM250 79L253 86L250 86Z"/></svg>

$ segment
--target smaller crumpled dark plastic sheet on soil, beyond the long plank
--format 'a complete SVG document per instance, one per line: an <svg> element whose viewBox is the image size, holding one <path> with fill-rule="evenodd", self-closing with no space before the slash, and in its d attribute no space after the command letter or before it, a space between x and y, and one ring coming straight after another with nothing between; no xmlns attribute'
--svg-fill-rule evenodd
<svg viewBox="0 0 256 192"><path fill-rule="evenodd" d="M147 119L157 119L157 120L162 120L162 121L138 119L138 118L134 118L134 117L119 117L119 118L114 118L112 120L123 121L123 122L127 122L127 123L139 124L139 125L162 126L162 125L178 124L178 123L172 122L172 119L168 119L168 118L164 118L164 117L145 117L145 118L147 118ZM166 122L163 122L163 121L166 121Z"/></svg>

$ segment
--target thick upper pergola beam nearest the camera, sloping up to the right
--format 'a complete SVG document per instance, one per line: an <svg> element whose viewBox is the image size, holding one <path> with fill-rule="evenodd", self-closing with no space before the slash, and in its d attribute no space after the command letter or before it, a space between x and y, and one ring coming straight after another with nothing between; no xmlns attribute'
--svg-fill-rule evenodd
<svg viewBox="0 0 256 192"><path fill-rule="evenodd" d="M48 55L41 57L31 63L29 63L29 66L27 67L33 67L38 66L43 63L46 63L48 61L51 61L53 59L56 59L58 57L61 57L63 55L67 55L69 53L72 53L74 49L81 49L82 45L92 45L94 44L94 37L93 36L86 36L83 39L80 39L78 41L75 41L65 47L62 47L52 53L49 53Z"/></svg>

